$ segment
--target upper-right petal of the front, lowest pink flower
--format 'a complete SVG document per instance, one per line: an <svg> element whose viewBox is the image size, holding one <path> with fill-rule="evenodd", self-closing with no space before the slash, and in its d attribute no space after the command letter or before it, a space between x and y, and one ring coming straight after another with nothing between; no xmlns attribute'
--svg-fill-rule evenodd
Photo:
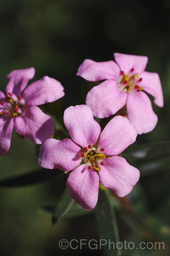
<svg viewBox="0 0 170 256"><path fill-rule="evenodd" d="M104 148L105 155L119 155L126 147L135 142L137 131L129 120L123 116L115 116L102 131L98 143L98 151Z"/></svg>

